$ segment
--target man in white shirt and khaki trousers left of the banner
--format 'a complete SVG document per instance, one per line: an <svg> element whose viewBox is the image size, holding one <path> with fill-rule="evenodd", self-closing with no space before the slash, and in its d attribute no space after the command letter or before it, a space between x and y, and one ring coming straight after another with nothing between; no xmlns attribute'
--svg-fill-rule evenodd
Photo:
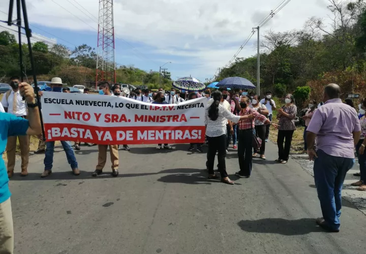
<svg viewBox="0 0 366 254"><path fill-rule="evenodd" d="M9 114L17 117L26 118L27 107L19 92L19 78L12 77L10 79L11 90L6 92L3 96L2 105L4 110ZM7 157L8 157L8 177L12 177L15 167L15 153L16 143L19 140L20 157L21 157L21 176L28 175L28 162L29 162L29 136L11 136L8 138L7 143Z"/></svg>

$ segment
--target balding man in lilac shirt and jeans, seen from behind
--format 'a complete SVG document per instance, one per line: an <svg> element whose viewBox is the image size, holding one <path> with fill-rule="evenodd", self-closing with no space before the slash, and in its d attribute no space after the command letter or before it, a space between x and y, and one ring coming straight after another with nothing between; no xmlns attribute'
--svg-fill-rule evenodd
<svg viewBox="0 0 366 254"><path fill-rule="evenodd" d="M361 134L356 110L342 103L340 94L339 85L325 86L324 104L314 112L307 129L308 154L310 160L315 159L314 180L323 213L316 223L330 232L340 231L342 186L353 167L353 149Z"/></svg>

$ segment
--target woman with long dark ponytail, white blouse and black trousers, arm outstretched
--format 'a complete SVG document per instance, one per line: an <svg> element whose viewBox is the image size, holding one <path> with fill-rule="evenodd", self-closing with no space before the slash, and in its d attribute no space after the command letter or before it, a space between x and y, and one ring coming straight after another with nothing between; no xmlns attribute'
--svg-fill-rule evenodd
<svg viewBox="0 0 366 254"><path fill-rule="evenodd" d="M226 157L226 123L230 120L237 123L240 119L253 118L253 115L237 116L232 114L225 107L220 105L222 100L222 93L220 91L214 91L211 93L214 102L206 108L205 112L205 125L206 125L206 137L208 141L207 151L207 169L208 178L217 178L214 172L214 162L216 151L218 151L219 172L221 174L221 181L227 184L234 184L228 177L226 172L225 157ZM230 132L233 132L231 128Z"/></svg>

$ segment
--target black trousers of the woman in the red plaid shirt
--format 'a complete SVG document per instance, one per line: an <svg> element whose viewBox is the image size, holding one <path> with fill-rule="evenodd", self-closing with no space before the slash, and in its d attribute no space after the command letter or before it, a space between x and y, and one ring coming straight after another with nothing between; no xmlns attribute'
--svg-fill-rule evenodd
<svg viewBox="0 0 366 254"><path fill-rule="evenodd" d="M238 159L240 174L250 176L252 173L252 140L253 129L239 131Z"/></svg>

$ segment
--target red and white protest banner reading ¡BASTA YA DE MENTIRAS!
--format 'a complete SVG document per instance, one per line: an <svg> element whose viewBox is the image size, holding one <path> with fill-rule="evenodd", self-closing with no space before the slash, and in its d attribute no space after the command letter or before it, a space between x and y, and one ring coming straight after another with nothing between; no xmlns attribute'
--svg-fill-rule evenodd
<svg viewBox="0 0 366 254"><path fill-rule="evenodd" d="M150 104L126 97L43 92L47 141L96 144L203 143L207 99Z"/></svg>

